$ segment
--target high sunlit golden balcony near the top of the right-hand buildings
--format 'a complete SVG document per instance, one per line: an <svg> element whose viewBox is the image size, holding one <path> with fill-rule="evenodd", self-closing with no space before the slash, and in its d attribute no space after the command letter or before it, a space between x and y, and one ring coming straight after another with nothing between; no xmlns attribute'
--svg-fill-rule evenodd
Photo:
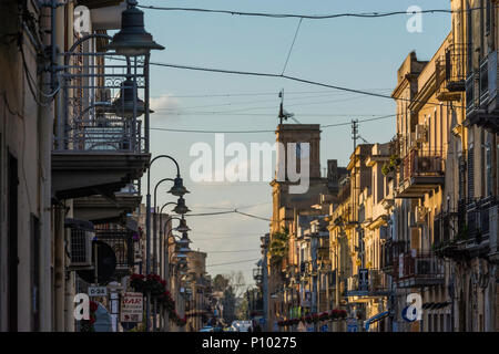
<svg viewBox="0 0 499 354"><path fill-rule="evenodd" d="M466 46L452 44L436 62L437 98L459 101L466 88Z"/></svg>

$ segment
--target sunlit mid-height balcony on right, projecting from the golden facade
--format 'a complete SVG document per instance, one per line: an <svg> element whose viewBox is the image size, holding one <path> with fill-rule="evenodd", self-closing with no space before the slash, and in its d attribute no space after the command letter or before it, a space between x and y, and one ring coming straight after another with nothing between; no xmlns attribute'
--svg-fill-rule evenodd
<svg viewBox="0 0 499 354"><path fill-rule="evenodd" d="M414 148L401 163L396 198L421 198L444 186L445 162L440 152Z"/></svg>

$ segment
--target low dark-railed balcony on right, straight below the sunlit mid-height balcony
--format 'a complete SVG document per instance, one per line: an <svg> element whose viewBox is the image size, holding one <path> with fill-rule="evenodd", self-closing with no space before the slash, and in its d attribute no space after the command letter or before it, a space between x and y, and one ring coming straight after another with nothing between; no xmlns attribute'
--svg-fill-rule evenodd
<svg viewBox="0 0 499 354"><path fill-rule="evenodd" d="M445 283L444 260L432 253L406 252L394 260L398 288L434 287Z"/></svg>

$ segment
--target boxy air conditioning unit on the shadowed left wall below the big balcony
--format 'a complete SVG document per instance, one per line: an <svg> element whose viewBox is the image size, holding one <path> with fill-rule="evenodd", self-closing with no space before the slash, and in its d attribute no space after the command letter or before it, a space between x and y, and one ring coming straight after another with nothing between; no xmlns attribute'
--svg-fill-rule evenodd
<svg viewBox="0 0 499 354"><path fill-rule="evenodd" d="M92 240L95 237L93 223L86 220L67 219L65 227L69 229L69 256L71 270L91 269Z"/></svg>

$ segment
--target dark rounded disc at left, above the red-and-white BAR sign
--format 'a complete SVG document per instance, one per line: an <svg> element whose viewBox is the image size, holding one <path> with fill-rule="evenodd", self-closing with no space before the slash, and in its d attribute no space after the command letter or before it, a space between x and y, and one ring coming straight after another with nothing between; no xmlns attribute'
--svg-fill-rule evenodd
<svg viewBox="0 0 499 354"><path fill-rule="evenodd" d="M98 283L99 285L105 285L114 275L114 270L116 269L116 254L111 246L103 241L92 242L92 259L93 264L95 264L95 247L96 247L96 266L98 266ZM95 282L95 274L93 269L89 270L78 270L78 275L88 283Z"/></svg>

